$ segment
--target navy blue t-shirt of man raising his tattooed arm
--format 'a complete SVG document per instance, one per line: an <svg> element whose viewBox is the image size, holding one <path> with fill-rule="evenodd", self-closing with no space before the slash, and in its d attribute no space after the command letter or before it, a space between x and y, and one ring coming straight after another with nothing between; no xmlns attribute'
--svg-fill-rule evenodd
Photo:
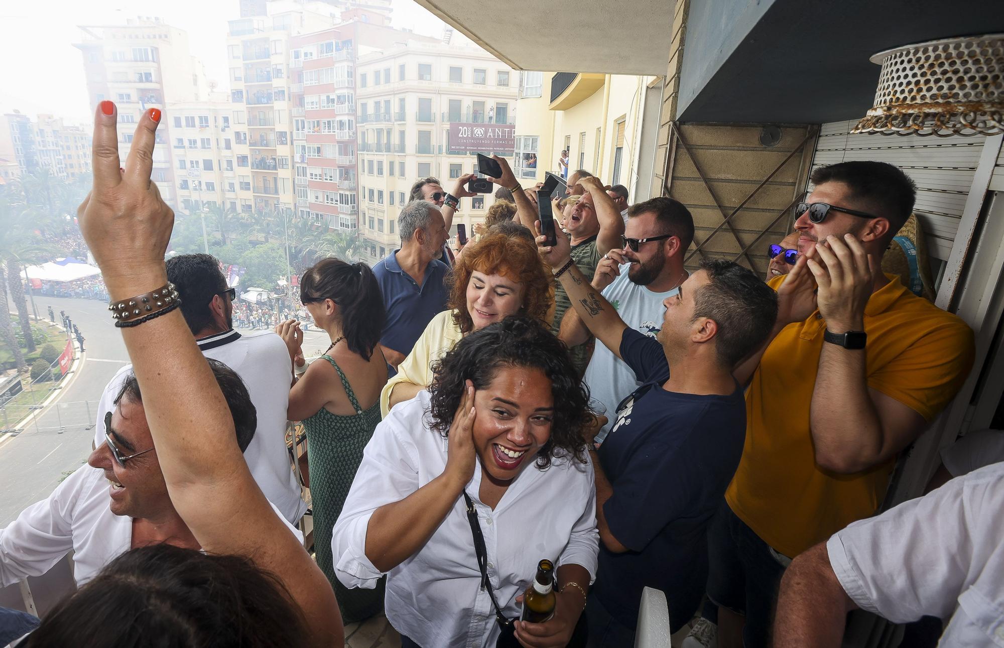
<svg viewBox="0 0 1004 648"><path fill-rule="evenodd" d="M677 631L705 591L705 532L743 452L745 399L739 383L727 396L663 389L670 367L662 345L636 330L624 329L620 357L645 384L617 407L598 454L613 488L606 524L629 551L614 554L600 543L593 592L634 628L643 588L663 590Z"/></svg>

